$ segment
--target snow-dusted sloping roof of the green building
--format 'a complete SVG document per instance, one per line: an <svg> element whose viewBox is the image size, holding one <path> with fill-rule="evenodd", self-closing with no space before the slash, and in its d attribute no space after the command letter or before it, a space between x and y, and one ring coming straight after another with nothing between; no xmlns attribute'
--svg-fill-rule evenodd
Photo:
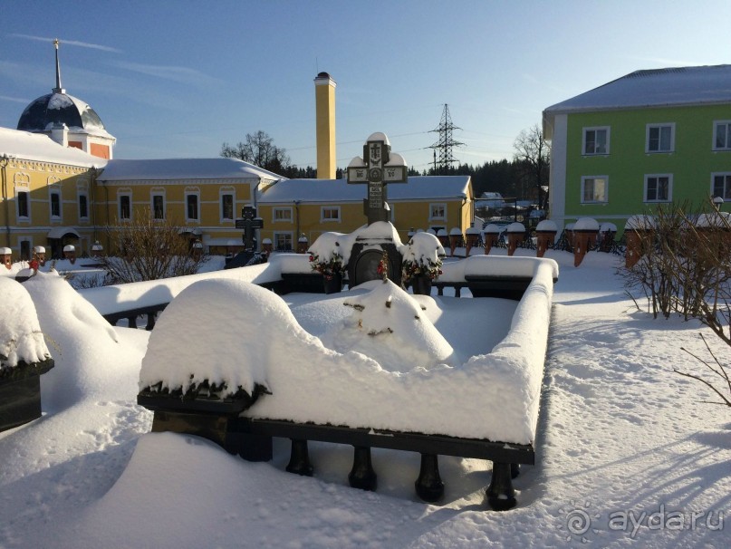
<svg viewBox="0 0 731 549"><path fill-rule="evenodd" d="M731 103L731 65L635 71L556 103L544 119L579 111Z"/></svg>

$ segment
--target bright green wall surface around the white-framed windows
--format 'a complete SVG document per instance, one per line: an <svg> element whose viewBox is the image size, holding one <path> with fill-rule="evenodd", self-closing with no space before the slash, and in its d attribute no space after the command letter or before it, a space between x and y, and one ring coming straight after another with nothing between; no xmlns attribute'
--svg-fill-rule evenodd
<svg viewBox="0 0 731 549"><path fill-rule="evenodd" d="M651 212L645 203L646 174L673 174L672 201L700 205L711 193L711 173L731 172L731 151L714 151L714 120L731 120L731 105L573 113L568 116L566 217L614 220ZM675 123L675 150L646 153L646 125ZM582 156L583 128L610 127L610 154ZM606 204L582 204L584 176L608 176ZM731 203L726 204L731 209Z"/></svg>

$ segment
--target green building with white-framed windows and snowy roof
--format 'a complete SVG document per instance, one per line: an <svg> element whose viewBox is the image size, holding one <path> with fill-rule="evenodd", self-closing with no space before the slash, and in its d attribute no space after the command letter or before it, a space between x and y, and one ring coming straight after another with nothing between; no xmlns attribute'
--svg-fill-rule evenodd
<svg viewBox="0 0 731 549"><path fill-rule="evenodd" d="M559 227L731 202L731 65L632 72L547 108L543 135Z"/></svg>

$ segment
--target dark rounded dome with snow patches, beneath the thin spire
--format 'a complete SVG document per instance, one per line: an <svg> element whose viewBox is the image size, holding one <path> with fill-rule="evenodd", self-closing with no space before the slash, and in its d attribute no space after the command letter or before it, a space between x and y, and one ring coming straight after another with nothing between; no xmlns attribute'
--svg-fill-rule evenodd
<svg viewBox="0 0 731 549"><path fill-rule="evenodd" d="M106 134L99 115L84 101L67 93L43 95L25 107L18 120L18 130L48 131L66 124L69 130Z"/></svg>

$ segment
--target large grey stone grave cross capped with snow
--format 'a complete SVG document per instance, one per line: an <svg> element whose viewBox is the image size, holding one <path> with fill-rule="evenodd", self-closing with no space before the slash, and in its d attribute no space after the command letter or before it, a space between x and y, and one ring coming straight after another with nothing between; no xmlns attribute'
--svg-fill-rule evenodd
<svg viewBox="0 0 731 549"><path fill-rule="evenodd" d="M363 200L363 213L368 224L389 221L386 185L406 183L406 161L397 153L391 153L389 138L374 133L363 145L363 158L355 157L348 166L348 183L368 184L368 197Z"/></svg>

